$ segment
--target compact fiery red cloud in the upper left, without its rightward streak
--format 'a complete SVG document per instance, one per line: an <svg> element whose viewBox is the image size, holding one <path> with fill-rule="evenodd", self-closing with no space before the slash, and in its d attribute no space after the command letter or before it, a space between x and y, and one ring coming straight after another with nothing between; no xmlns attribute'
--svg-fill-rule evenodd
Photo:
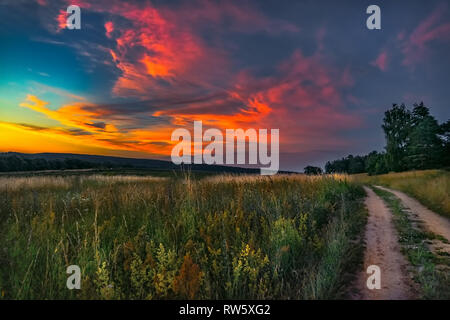
<svg viewBox="0 0 450 320"><path fill-rule="evenodd" d="M191 26L180 24L184 12L174 17L175 12L167 8L123 2L95 3L91 9L107 10L128 21L127 27L114 24L116 47L110 53L121 71L113 88L115 95L154 97L168 90L167 83L170 90L181 92L180 85L203 85L218 79L220 70L226 69L223 52L207 46ZM108 36L112 26L112 22L105 25Z"/></svg>

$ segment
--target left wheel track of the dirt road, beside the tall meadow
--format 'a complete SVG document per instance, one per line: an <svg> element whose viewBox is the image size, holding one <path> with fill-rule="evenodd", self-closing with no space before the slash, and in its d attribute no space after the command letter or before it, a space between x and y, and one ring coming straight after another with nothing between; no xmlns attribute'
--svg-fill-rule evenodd
<svg viewBox="0 0 450 320"><path fill-rule="evenodd" d="M366 206L369 210L365 241L366 252L364 267L358 275L354 299L384 300L384 299L414 299L413 282L407 271L408 263L400 252L397 232L392 223L392 214L371 189L367 192ZM381 289L367 288L367 267L377 265L381 270Z"/></svg>

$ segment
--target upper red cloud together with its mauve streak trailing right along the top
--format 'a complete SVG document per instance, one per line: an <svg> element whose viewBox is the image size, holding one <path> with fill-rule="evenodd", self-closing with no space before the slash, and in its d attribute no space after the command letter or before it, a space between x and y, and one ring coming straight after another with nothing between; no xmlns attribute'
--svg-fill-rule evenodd
<svg viewBox="0 0 450 320"><path fill-rule="evenodd" d="M229 80L228 54L205 42L200 36L205 27L219 33L224 25L245 33L298 31L290 23L269 19L256 7L230 1L186 1L158 7L149 2L116 0L78 0L76 4L107 13L112 20L120 17L121 23L105 24L108 37L112 37L112 27L115 32L116 47L110 53L121 71L113 88L118 96L145 98L173 91L183 93L186 85L211 88Z"/></svg>

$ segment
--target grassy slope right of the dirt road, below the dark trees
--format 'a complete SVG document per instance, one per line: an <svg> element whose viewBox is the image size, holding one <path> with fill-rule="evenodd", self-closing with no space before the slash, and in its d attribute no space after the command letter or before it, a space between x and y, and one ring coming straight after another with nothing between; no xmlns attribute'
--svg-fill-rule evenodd
<svg viewBox="0 0 450 320"><path fill-rule="evenodd" d="M379 176L358 174L352 180L401 190L429 209L450 218L450 172L444 170L408 171Z"/></svg>

